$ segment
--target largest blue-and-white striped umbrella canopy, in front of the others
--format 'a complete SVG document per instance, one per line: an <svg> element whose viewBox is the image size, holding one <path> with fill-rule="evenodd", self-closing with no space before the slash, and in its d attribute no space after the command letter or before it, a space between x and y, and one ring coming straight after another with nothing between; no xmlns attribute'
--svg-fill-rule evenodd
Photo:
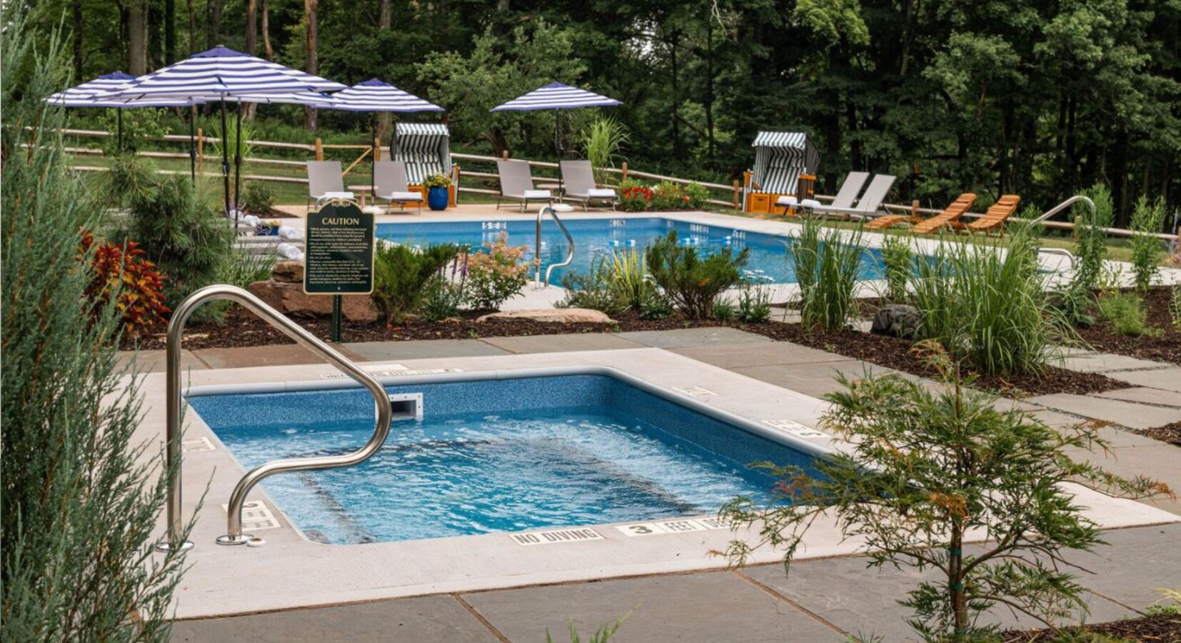
<svg viewBox="0 0 1181 643"><path fill-rule="evenodd" d="M340 83L227 47L214 47L142 76L129 86L96 98L222 97L302 91L337 91ZM207 98L208 99L208 98Z"/></svg>

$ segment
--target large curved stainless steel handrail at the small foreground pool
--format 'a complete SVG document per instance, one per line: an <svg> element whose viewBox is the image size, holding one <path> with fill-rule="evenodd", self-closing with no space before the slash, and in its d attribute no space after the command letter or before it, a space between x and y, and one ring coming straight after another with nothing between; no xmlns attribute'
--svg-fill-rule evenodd
<svg viewBox="0 0 1181 643"><path fill-rule="evenodd" d="M183 531L181 515L181 339L184 331L184 324L189 320L193 311L205 301L211 301L214 299L228 299L246 306L250 310L250 312L257 314L262 319L267 320L267 323L272 326L282 331L283 335L294 339L301 346L319 355L333 366L340 369L348 377L355 379L359 384L365 387L370 394L373 395L373 400L377 401L377 426L373 428L373 436L370 437L368 442L366 442L360 449L333 456L273 460L247 472L247 474L239 480L237 485L234 487L234 492L229 496L229 508L226 518L228 533L217 538L217 543L220 545L242 545L250 540L249 537L242 535L242 505L246 502L246 495L262 479L282 472L326 469L357 465L377 453L377 450L381 447L381 443L385 442L385 437L390 434L390 420L392 411L390 409L389 397L386 397L385 389L381 387L381 383L378 382L372 375L358 368L357 364L353 364L347 357L340 355L332 346L325 344L314 335L304 330L302 326L283 317L282 313L272 308L257 297L237 286L217 284L214 286L205 286L194 292L176 307L172 312L171 320L168 323L168 423L165 430L165 457L168 460L169 470L172 472L172 479L168 489L168 534L165 541L156 545L158 551L188 550L189 547L193 547L193 543L181 539Z"/></svg>

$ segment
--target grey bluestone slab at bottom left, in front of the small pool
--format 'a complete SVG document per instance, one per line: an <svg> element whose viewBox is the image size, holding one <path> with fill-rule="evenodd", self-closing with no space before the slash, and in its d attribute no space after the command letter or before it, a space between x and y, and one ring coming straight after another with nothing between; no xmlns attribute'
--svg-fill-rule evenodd
<svg viewBox="0 0 1181 643"><path fill-rule="evenodd" d="M426 596L309 610L180 621L174 643L354 643L398 641L496 643L484 624L450 596Z"/></svg>

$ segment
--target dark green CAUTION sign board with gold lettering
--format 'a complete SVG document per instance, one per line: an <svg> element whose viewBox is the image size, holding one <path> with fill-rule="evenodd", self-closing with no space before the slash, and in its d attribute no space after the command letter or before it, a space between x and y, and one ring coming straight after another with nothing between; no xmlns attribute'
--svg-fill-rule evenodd
<svg viewBox="0 0 1181 643"><path fill-rule="evenodd" d="M373 292L373 215L357 203L333 200L307 213L304 292Z"/></svg>

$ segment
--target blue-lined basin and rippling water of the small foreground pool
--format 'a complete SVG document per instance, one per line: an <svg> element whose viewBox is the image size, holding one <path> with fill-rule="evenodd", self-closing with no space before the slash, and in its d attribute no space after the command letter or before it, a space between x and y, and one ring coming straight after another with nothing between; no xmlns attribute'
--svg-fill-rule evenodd
<svg viewBox="0 0 1181 643"><path fill-rule="evenodd" d="M262 487L313 540L353 544L713 513L768 500L746 465L811 456L613 377L387 387L422 392L423 422L393 424L355 467L276 474ZM247 468L345 453L373 430L361 389L189 398Z"/></svg>

